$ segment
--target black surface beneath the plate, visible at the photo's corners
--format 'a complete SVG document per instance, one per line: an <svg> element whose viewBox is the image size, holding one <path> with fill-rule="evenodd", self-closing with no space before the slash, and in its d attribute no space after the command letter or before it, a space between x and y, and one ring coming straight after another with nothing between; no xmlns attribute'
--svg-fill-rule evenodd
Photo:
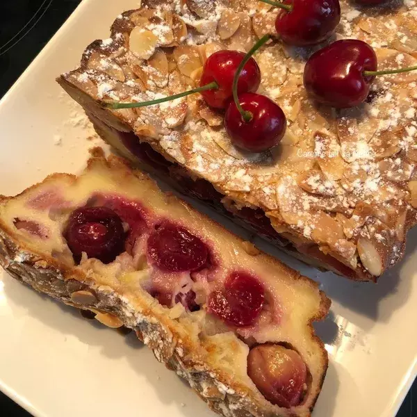
<svg viewBox="0 0 417 417"><path fill-rule="evenodd" d="M0 97L7 92L80 2L0 0ZM1 393L0 416L30 417L26 411ZM417 382L407 395L397 417L417 417Z"/></svg>

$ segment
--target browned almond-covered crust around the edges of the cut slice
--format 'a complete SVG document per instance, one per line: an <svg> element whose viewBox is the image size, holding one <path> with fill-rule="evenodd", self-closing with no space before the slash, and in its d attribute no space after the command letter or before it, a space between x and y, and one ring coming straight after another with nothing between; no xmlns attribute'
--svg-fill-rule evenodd
<svg viewBox="0 0 417 417"><path fill-rule="evenodd" d="M93 158L88 163L88 170L93 169L95 164L103 163L111 170L117 170L122 176L134 174L142 181L151 181L141 172L132 173L129 167L119 158L112 156L107 161L98 149L93 152ZM65 174L53 174L47 178L47 182L54 179L67 177L74 181L74 176ZM33 190L33 187L28 188ZM24 192L26 193L27 190ZM22 195L22 194L21 194ZM13 197L6 197L3 203ZM179 202L176 197L172 199L177 204L183 204L190 211L193 208L184 202ZM212 227L219 225L212 220L195 213L202 221L208 222ZM220 232L219 232L220 233ZM238 238L233 238L238 240ZM271 268L277 268L280 273L288 276L291 281L302 280L308 284L311 291L318 291L318 284L302 277L298 272L282 265L275 259L265 254L259 254L257 259L268 263ZM31 250L15 231L11 230L0 218L0 264L10 275L32 286L37 291L47 293L51 297L65 302L65 304L81 309L90 309L96 313L108 313L104 320L112 327L118 327L121 323L135 329L138 336L152 348L158 361L164 362L168 368L176 370L177 374L188 380L199 396L207 402L208 406L224 416L247 416L247 417L272 417L272 416L309 416L309 410L313 409L316 402L322 379L327 369L327 352L322 342L314 335L311 323L314 320L322 320L327 315L330 300L322 291L319 291L320 305L316 313L311 317L308 327L311 343L318 347L317 360L321 363L320 381L313 393L308 395L308 407L305 405L295 407L293 411L279 409L272 406L259 395L254 395L251 389L240 384L228 374L222 374L221 370L213 370L207 363L199 359L198 349L191 338L184 337L178 331L177 325L158 310L149 307L145 299L138 297L134 306L129 299L113 291L112 288L101 286L95 281L94 275L85 275L83 270L61 263L47 254L37 253Z"/></svg>

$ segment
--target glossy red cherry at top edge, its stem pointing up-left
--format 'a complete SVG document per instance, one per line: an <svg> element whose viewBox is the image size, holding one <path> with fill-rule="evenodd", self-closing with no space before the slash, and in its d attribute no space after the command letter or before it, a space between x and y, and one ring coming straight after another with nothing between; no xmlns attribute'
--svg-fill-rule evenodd
<svg viewBox="0 0 417 417"><path fill-rule="evenodd" d="M275 29L281 40L297 47L318 44L334 33L341 21L338 0L284 0L293 10L281 10Z"/></svg>

